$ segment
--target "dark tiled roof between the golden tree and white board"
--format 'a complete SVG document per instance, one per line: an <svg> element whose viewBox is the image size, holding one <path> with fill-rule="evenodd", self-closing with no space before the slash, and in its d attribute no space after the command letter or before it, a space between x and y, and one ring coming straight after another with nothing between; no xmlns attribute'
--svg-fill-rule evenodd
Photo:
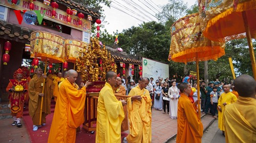
<svg viewBox="0 0 256 143"><path fill-rule="evenodd" d="M141 65L141 61L139 60L140 57L127 54L126 52L123 52L123 51L118 51L117 49L114 49L108 46L106 46L106 48L108 49L108 51L110 51L111 55L113 56L116 62Z"/></svg>

